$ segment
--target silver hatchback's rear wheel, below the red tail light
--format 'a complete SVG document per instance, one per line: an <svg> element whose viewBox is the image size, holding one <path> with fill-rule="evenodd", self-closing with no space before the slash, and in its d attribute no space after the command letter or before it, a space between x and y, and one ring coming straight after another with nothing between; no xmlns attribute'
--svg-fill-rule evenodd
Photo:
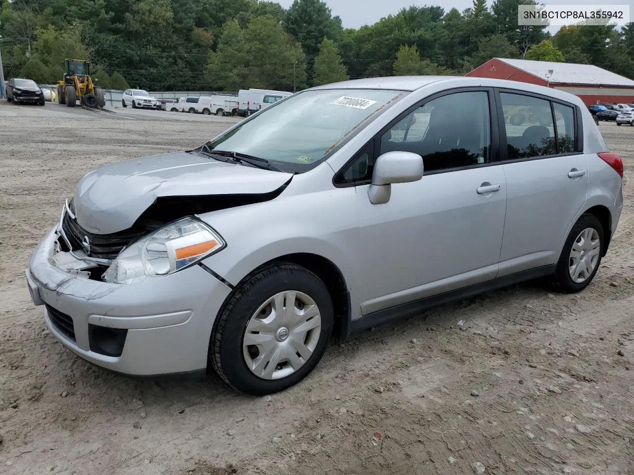
<svg viewBox="0 0 634 475"><path fill-rule="evenodd" d="M603 255L604 229L591 214L582 215L571 229L561 251L553 276L555 288L564 293L585 289L595 274Z"/></svg>

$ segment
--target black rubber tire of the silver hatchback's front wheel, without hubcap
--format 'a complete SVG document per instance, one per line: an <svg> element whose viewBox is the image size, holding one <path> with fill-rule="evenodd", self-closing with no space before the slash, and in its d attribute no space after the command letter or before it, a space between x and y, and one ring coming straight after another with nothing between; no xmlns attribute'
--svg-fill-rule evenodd
<svg viewBox="0 0 634 475"><path fill-rule="evenodd" d="M249 352L247 352L247 347L243 347L243 339L247 334L247 325L256 318L254 314L259 307L273 296L285 291L298 291L303 295L302 298L307 296L316 304L319 312L317 315L321 319L320 331L318 337L314 333L312 336L306 334L306 337L296 334L299 338L306 338L310 345L314 345L312 353L310 353L303 364L301 364L303 358L300 357L297 357L297 362L300 365L296 369L292 368L290 361L281 362L280 365L275 366L275 369L272 370L273 372L282 372L284 370L287 372L291 370L292 372L287 376L283 376L282 372L281 376L278 375L280 376L279 379L264 379L264 377L256 376L247 366L247 357L251 358L250 352L257 352L258 347L251 345L249 346ZM297 297L295 302L299 301L299 294ZM266 307L262 309L262 312L265 310ZM271 315L273 315L272 311L269 313L269 316ZM279 263L275 267L266 267L245 278L243 283L236 288L233 295L226 301L216 320L216 327L212 331L209 358L219 376L236 390L254 396L276 393L299 383L313 371L326 351L326 346L332 333L333 320L332 300L325 284L313 272L304 267L292 263ZM297 323L297 326L303 326L303 324ZM289 346L297 348L295 345L290 345L290 342L294 340L292 336L289 336L288 332L290 329L290 335L292 335L292 328L290 325L288 327L287 336L278 335L278 337L291 338L288 340ZM281 327L278 331L280 330ZM259 334L264 333L261 332ZM272 344L279 348L280 344L276 343L276 341L279 341L277 340L278 337L274 337L271 334ZM305 342L300 346L306 350L307 346L304 345L306 345ZM295 357L293 353L289 354ZM256 353L256 355L259 356L259 353ZM282 367L282 365L285 366ZM268 368L268 363L263 368ZM271 368L273 367L271 366ZM262 369L262 374L266 372L264 369Z"/></svg>

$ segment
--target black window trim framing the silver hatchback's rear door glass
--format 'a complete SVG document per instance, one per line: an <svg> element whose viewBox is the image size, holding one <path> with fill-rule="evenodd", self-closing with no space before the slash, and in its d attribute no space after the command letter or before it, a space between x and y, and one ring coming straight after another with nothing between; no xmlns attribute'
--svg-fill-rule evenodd
<svg viewBox="0 0 634 475"><path fill-rule="evenodd" d="M517 162L530 162L532 160L545 160L546 158L555 158L559 156L573 156L573 155L581 155L583 154L583 120L581 118L581 110L578 105L562 101L560 99L552 98L550 96L545 96L543 94L536 94L535 92L528 91L520 91L519 89L509 89L507 87L494 87L495 89L495 99L496 104L498 105L498 120L500 124L498 124L498 130L500 132L500 163L517 163ZM539 156L529 156L529 157L521 157L521 158L508 158L508 144L507 144L507 127L504 123L504 111L502 109L502 100L500 98L500 93L505 92L506 94L515 94L517 96L528 96L535 99L541 99L543 101L548 101L550 103L550 111L552 113L553 118L553 130L555 130L555 143L557 143L557 128L555 125L555 104L560 104L562 106L567 106L573 109L573 120L574 120L574 151L566 152L566 153L555 153L550 155L539 155ZM557 149L559 149L559 144L557 144Z"/></svg>

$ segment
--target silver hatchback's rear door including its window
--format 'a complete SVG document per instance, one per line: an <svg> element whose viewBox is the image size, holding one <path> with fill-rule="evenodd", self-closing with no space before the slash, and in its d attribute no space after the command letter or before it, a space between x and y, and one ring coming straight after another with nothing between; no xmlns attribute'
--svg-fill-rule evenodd
<svg viewBox="0 0 634 475"><path fill-rule="evenodd" d="M576 106L522 91L496 94L505 117L500 143L508 187L501 277L559 260L586 201L588 162Z"/></svg>

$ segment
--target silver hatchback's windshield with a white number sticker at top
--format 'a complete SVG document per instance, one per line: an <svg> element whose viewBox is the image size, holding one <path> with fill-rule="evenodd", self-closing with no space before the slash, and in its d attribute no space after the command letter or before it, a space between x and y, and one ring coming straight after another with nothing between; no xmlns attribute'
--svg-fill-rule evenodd
<svg viewBox="0 0 634 475"><path fill-rule="evenodd" d="M378 89L299 92L208 146L264 158L288 171L306 170L406 94Z"/></svg>

